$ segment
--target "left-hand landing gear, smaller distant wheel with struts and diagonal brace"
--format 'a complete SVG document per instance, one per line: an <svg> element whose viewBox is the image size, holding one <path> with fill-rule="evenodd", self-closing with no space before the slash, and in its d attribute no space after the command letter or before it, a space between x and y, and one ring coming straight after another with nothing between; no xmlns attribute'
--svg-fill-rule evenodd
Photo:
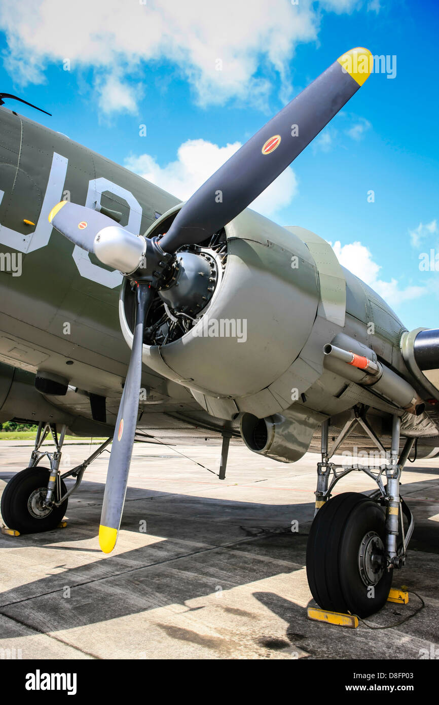
<svg viewBox="0 0 439 705"><path fill-rule="evenodd" d="M44 450L42 449L42 444L49 434L55 444L54 452L46 450L45 446ZM29 467L9 480L1 496L1 515L10 529L15 529L20 534L55 529L66 513L68 497L78 489L88 465L111 442L111 438L107 439L81 465L61 475L59 465L65 435L65 426L61 428L61 434L58 436L54 424L39 423ZM38 465L44 457L50 462L50 470ZM64 484L66 477L76 479L69 490Z"/></svg>

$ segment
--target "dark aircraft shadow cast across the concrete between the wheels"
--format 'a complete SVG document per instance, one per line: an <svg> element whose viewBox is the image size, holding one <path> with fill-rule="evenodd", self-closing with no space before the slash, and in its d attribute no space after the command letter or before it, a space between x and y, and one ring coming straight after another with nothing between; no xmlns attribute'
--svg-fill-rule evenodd
<svg viewBox="0 0 439 705"><path fill-rule="evenodd" d="M10 475L0 473L0 479L6 479L6 474ZM426 485L431 486L431 481L411 483L407 489L418 491ZM231 589L304 568L314 503L246 503L130 487L122 532L133 532L133 541L142 541L139 526L146 520L145 540L149 543L116 555L98 556L97 541L92 548L74 544L97 537L104 486L83 482L82 487L83 502L68 510L67 529L1 540L2 548L79 549L82 556L91 553L92 560L84 565L50 567L61 572L0 593L0 613L20 618L21 623L40 632L185 605L214 594L218 588ZM415 520L416 515L419 519L414 544L417 542L417 550L431 552L430 546L439 545L439 522L424 516L425 500L408 499ZM432 500L433 509L434 504ZM298 533L291 531L292 520L299 522ZM119 549L124 541L128 543L122 533ZM66 543L70 545L62 545ZM263 594L258 593L258 599ZM287 608L294 611L294 605ZM16 636L21 634L18 625Z"/></svg>

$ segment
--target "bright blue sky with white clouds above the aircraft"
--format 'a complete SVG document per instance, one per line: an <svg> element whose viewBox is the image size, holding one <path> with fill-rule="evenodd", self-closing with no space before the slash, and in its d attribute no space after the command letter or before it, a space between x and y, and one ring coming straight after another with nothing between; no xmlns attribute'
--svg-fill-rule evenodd
<svg viewBox="0 0 439 705"><path fill-rule="evenodd" d="M389 56L395 78L373 73L254 207L333 243L409 329L439 326L439 255L419 269L439 253L435 0L78 0L61 23L4 0L0 30L0 90L53 117L16 109L182 198L344 51Z"/></svg>

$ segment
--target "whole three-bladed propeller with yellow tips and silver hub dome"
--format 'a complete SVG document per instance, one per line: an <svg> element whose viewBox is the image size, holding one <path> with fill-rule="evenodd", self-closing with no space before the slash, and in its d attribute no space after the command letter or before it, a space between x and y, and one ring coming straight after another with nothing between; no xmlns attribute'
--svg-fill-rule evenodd
<svg viewBox="0 0 439 705"><path fill-rule="evenodd" d="M134 235L109 216L75 203L62 201L51 210L49 222L56 230L136 286L134 338L99 527L105 553L116 545L125 501L139 409L144 324L166 271L171 264L184 266L183 258L175 264L176 250L202 243L252 203L357 92L369 76L370 57L362 47L340 56L190 197L160 240Z"/></svg>

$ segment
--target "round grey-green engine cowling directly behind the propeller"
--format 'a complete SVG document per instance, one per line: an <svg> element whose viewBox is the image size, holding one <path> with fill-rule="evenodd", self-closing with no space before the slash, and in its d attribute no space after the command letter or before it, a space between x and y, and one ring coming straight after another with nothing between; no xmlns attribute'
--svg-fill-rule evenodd
<svg viewBox="0 0 439 705"><path fill-rule="evenodd" d="M156 221L147 237L166 232L180 207ZM164 338L161 344L144 344L143 362L190 388L194 398L213 415L233 418L239 412L252 410L246 408L245 400L261 392L264 395L304 348L316 319L319 275L309 248L297 235L250 209L225 226L223 241L222 250L211 250L209 243L202 243L201 247L177 252L180 270L175 274L175 283L171 281L165 291L158 293L163 300L160 311L175 320L174 333L176 326L183 328L182 321L192 317L192 322L190 327L185 324L187 330L183 329L171 342ZM190 250L192 259L183 256L179 262L183 250ZM213 293L207 300L208 288L203 290L205 268L200 267L194 284L199 298L190 302L185 290L185 310L178 311L177 305L171 308L169 287L173 286L177 293L178 281L182 288L185 285L186 272L182 274L181 267L190 266L190 276L194 276L194 253L199 255L200 263L202 258L209 263ZM221 267L218 258L225 266ZM130 346L132 298L125 279L119 312L123 335ZM206 301L204 307L197 304L202 299ZM162 304L157 300L159 305ZM197 306L199 311L195 314ZM152 331L149 319L147 325ZM169 330L172 324L165 321L163 325ZM157 328L154 331L155 335L163 333ZM317 347L323 364L323 352ZM268 393L270 403L260 399L259 413L267 415L292 403L288 382L280 397Z"/></svg>

